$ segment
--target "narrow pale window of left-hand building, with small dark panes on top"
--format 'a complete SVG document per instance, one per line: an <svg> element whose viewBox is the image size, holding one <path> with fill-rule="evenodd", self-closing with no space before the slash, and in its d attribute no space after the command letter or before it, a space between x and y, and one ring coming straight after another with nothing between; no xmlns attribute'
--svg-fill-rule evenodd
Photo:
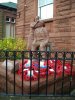
<svg viewBox="0 0 75 100"><path fill-rule="evenodd" d="M6 38L15 37L15 18L6 16Z"/></svg>

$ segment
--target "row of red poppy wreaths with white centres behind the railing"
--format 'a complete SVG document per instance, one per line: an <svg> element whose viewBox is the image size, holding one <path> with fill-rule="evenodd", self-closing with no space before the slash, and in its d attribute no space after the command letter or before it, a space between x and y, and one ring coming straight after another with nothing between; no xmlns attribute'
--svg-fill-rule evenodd
<svg viewBox="0 0 75 100"><path fill-rule="evenodd" d="M56 63L56 65L55 65ZM56 71L56 75L60 76L63 72L64 67L64 73L71 74L71 65L69 62L65 63L63 66L62 62L60 60L45 60L45 61L31 61L28 59L25 59L23 63L19 64L19 70L18 75L21 77L23 76L24 80L38 80L38 78L45 78L48 75L54 75ZM48 73L47 73L48 71ZM23 74L22 74L23 72Z"/></svg>

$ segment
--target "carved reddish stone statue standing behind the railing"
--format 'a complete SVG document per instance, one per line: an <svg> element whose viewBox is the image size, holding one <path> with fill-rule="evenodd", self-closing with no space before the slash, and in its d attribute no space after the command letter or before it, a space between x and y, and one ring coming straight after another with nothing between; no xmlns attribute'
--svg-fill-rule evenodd
<svg viewBox="0 0 75 100"><path fill-rule="evenodd" d="M45 23L36 16L35 21L30 24L30 34L28 37L28 49L35 51L39 47L40 51L45 51L49 42L49 33L45 28ZM35 55L36 56L36 55ZM45 57L45 53L42 53Z"/></svg>

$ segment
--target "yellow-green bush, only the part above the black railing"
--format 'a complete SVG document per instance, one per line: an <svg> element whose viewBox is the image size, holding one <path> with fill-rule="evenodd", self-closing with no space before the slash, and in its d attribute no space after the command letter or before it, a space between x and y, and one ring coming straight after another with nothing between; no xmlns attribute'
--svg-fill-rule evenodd
<svg viewBox="0 0 75 100"><path fill-rule="evenodd" d="M0 50L26 50L27 43L21 38L0 40Z"/></svg>

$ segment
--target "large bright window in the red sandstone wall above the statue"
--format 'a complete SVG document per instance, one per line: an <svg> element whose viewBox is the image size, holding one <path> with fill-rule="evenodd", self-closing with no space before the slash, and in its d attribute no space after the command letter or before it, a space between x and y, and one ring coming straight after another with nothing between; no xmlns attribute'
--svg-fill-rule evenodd
<svg viewBox="0 0 75 100"><path fill-rule="evenodd" d="M38 0L38 16L40 19L53 18L53 0Z"/></svg>

